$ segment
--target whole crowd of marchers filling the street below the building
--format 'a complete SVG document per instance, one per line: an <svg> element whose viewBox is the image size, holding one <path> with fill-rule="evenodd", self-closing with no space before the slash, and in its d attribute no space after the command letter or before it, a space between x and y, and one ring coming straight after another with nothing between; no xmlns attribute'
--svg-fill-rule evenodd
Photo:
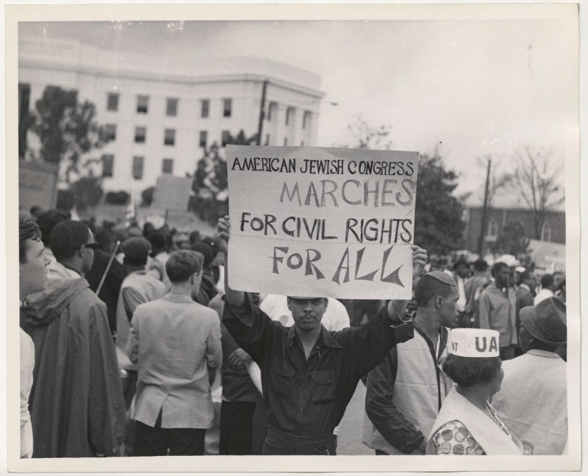
<svg viewBox="0 0 588 476"><path fill-rule="evenodd" d="M202 237L31 211L23 458L336 455L357 385L376 455L567 452L564 275L413 246L411 301L244 293L228 217Z"/></svg>

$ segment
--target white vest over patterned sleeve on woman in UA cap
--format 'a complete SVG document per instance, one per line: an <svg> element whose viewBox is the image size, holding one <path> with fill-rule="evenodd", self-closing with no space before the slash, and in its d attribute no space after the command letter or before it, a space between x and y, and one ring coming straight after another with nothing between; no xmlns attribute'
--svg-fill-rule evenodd
<svg viewBox="0 0 588 476"><path fill-rule="evenodd" d="M486 455L522 455L524 452L524 446L515 434L513 439L508 437L488 415L470 403L454 387L443 401L441 412L432 426L428 437L427 455L435 454L432 436L445 423L451 421L462 423L479 446L484 449Z"/></svg>

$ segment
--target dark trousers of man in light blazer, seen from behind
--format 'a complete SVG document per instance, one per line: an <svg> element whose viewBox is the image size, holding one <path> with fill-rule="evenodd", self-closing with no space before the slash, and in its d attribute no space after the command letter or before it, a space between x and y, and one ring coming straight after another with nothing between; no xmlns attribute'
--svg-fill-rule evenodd
<svg viewBox="0 0 588 476"><path fill-rule="evenodd" d="M151 428L135 422L134 456L200 456L204 454L204 436L201 428L161 428L161 412Z"/></svg>

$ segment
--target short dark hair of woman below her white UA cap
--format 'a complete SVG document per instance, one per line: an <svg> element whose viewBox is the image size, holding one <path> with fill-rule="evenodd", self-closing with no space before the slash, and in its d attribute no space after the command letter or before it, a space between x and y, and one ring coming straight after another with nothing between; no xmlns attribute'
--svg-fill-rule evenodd
<svg viewBox="0 0 588 476"><path fill-rule="evenodd" d="M443 372L460 387L490 383L500 372L499 357L461 357L450 354L443 361Z"/></svg>

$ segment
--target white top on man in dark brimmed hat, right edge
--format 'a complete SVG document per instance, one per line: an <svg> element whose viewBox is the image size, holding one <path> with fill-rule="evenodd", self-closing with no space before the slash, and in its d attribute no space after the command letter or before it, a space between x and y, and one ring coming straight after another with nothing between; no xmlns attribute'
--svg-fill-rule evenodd
<svg viewBox="0 0 588 476"><path fill-rule="evenodd" d="M553 352L531 349L502 364L492 403L504 423L533 445L533 455L563 455L568 439L567 366Z"/></svg>

